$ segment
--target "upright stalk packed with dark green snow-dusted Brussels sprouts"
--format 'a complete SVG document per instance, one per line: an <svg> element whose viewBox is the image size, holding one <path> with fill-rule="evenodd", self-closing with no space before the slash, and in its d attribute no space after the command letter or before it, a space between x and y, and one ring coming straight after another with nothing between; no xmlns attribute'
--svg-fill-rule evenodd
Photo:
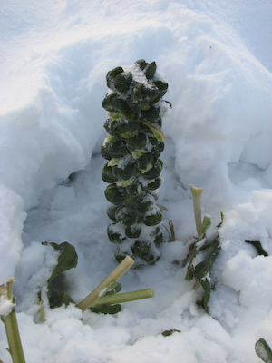
<svg viewBox="0 0 272 363"><path fill-rule="evenodd" d="M106 80L110 92L102 101L109 118L109 133L102 142L102 180L109 183L105 196L111 202L107 215L109 240L116 244L116 260L132 255L136 266L153 264L163 241L162 215L156 205L161 179L160 152L165 136L162 100L168 83L156 72L157 65L141 59L131 67L116 67Z"/></svg>

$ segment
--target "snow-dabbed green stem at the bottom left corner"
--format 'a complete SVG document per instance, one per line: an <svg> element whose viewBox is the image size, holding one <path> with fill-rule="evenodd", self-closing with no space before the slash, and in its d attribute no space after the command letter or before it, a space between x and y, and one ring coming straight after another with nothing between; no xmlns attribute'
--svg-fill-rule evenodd
<svg viewBox="0 0 272 363"><path fill-rule="evenodd" d="M13 359L13 363L25 363L15 315L15 298L12 289L14 281L13 278L8 279L0 286L0 314L5 324L5 333L9 346L8 350Z"/></svg>

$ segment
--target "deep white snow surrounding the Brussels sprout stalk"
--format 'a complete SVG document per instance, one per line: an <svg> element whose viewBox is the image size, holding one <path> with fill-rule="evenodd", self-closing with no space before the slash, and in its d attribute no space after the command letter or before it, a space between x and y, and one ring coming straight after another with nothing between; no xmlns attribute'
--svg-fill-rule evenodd
<svg viewBox="0 0 272 363"><path fill-rule="evenodd" d="M27 363L257 363L256 341L272 346L271 16L269 0L2 2L0 284L15 276ZM45 306L40 324L36 293L57 258L41 242L74 245L78 266L64 284L76 302L116 267L102 99L107 72L141 58L170 85L158 204L176 241L160 247L155 266L120 282L155 297L114 316ZM224 213L209 315L181 263L196 234L190 184L203 188L211 234ZM163 337L169 329L180 332ZM2 324L0 358L10 363L6 348Z"/></svg>

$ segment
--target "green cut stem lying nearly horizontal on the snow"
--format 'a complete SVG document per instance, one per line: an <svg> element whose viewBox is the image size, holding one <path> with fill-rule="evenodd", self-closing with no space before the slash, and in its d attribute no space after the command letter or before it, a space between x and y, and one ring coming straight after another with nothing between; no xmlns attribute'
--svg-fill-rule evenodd
<svg viewBox="0 0 272 363"><path fill-rule="evenodd" d="M124 292L112 296L103 296L92 303L92 307L102 304L121 304L121 302L149 299L154 297L153 289L139 289L137 291Z"/></svg>

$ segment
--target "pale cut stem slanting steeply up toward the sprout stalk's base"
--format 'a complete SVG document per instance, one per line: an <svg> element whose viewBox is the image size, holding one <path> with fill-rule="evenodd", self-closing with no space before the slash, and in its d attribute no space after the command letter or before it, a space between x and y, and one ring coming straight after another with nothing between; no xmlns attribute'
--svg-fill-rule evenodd
<svg viewBox="0 0 272 363"><path fill-rule="evenodd" d="M133 265L134 260L131 259L130 256L126 256L124 260L121 261L121 263L117 266L116 269L114 269L106 279L102 280L101 284L98 285L97 288L95 288L91 294L89 294L83 301L81 301L77 306L85 311L86 309L89 309L93 302L101 298L102 295L104 295L108 289L111 288L112 284L114 284L117 280L121 278L121 276L131 268Z"/></svg>

